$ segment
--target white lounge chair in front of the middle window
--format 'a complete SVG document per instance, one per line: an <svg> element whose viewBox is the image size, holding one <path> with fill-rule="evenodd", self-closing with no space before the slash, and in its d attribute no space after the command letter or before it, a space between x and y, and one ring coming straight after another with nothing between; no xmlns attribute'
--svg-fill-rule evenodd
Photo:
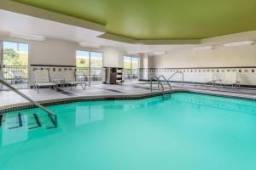
<svg viewBox="0 0 256 170"><path fill-rule="evenodd" d="M86 88L86 77L83 71L66 71L64 76L64 82L70 85L70 90L73 86L80 85L83 90Z"/></svg>

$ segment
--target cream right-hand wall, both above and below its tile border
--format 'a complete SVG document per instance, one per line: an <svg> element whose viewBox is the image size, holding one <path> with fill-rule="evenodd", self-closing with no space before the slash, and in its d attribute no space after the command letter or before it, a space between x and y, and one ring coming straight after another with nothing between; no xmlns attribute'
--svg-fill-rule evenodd
<svg viewBox="0 0 256 170"><path fill-rule="evenodd" d="M252 46L224 47L226 42L254 40ZM143 75L164 75L171 77L176 71L182 71L185 82L206 82L207 75L212 74L218 79L227 80L230 73L236 74L236 80L244 85L256 85L256 31L247 31L222 37L202 40L201 46L212 45L212 50L195 51L183 48L170 51L162 56L148 57L148 70ZM213 67L213 68L212 68ZM227 68L230 67L230 68ZM147 78L146 78L147 79ZM181 74L172 78L181 81Z"/></svg>

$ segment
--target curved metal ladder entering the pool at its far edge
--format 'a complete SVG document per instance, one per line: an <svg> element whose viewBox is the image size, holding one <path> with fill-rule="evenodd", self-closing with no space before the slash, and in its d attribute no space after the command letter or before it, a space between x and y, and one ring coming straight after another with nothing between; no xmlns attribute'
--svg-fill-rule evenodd
<svg viewBox="0 0 256 170"><path fill-rule="evenodd" d="M163 78L164 80L161 81L160 78ZM160 75L159 77L156 77L155 75L152 75L150 77L150 89L151 89L151 92L153 91L153 87L152 87L152 82L153 82L153 79L155 79L157 81L157 86L158 86L158 90L160 89L160 86L162 88L162 98L163 99L170 99L171 98L171 85L170 83L166 80L166 77ZM164 85L162 82L165 82L169 88L170 88L170 93L165 93L165 88L164 88Z"/></svg>

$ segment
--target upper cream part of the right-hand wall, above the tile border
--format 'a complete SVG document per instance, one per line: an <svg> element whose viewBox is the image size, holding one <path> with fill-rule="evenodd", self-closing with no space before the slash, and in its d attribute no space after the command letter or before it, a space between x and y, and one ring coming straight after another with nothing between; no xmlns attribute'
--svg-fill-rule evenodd
<svg viewBox="0 0 256 170"><path fill-rule="evenodd" d="M152 68L241 67L256 66L256 42L253 46L224 47L226 42L256 40L256 31L247 31L201 40L201 46L212 45L212 50L195 51L184 48L152 58Z"/></svg>

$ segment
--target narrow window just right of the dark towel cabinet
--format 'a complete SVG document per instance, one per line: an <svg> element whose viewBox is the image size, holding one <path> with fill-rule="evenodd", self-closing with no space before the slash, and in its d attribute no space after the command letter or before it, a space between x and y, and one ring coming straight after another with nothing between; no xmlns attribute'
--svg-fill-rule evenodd
<svg viewBox="0 0 256 170"><path fill-rule="evenodd" d="M124 56L124 79L133 81L138 79L139 60L137 57Z"/></svg>

